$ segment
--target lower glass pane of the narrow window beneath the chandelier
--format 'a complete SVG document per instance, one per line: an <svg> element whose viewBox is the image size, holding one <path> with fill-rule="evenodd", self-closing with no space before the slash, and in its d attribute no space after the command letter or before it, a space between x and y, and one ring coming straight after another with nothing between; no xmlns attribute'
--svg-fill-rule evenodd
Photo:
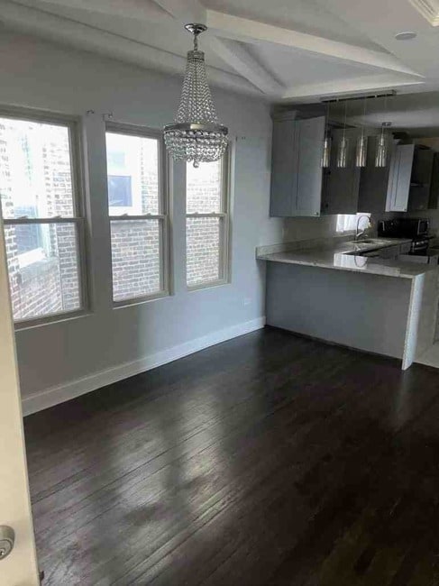
<svg viewBox="0 0 439 586"><path fill-rule="evenodd" d="M222 279L223 220L218 217L186 219L187 285Z"/></svg>

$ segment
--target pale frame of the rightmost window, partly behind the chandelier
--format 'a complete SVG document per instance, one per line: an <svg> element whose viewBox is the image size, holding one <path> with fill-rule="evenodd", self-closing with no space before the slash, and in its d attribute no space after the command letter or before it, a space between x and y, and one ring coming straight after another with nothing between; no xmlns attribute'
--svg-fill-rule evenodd
<svg viewBox="0 0 439 586"><path fill-rule="evenodd" d="M220 212L207 213L191 213L185 215L185 237L187 243L187 218L209 218L217 217L220 219L220 250L219 250L219 269L220 279L209 280L204 283L197 283L196 285L187 285L187 252L186 252L186 288L187 291L199 291L205 288L220 287L222 285L228 285L231 282L231 270L230 270L230 229L231 229L231 217L230 217L230 193L231 193L231 145L227 145L227 149L221 160L221 206ZM187 163L190 164L190 163ZM185 171L186 177L186 171ZM185 194L187 197L187 179L185 185ZM187 206L187 203L186 203ZM221 231L221 221L223 221L223 230ZM222 233L221 233L222 232ZM221 242L221 240L223 242ZM187 250L187 244L186 244Z"/></svg>

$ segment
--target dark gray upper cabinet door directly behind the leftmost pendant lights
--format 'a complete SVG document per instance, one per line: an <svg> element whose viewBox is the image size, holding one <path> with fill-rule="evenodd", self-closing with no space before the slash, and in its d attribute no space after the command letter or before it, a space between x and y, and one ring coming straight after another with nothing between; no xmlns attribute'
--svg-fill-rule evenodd
<svg viewBox="0 0 439 586"><path fill-rule="evenodd" d="M337 152L343 138L343 130L333 131L331 149L331 165L326 175L323 212L325 214L356 214L360 189L361 169L355 167L355 151L357 128L347 129L345 137L348 141L346 167L337 167Z"/></svg>

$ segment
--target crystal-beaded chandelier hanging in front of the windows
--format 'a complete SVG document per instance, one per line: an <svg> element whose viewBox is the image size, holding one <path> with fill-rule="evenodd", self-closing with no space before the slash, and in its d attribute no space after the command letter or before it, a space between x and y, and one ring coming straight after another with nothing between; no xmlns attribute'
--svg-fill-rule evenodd
<svg viewBox="0 0 439 586"><path fill-rule="evenodd" d="M206 78L205 54L198 50L198 35L204 24L186 24L194 35L194 50L187 52L187 66L180 104L174 124L164 128L165 143L174 160L200 162L218 160L227 148L227 128L218 122Z"/></svg>

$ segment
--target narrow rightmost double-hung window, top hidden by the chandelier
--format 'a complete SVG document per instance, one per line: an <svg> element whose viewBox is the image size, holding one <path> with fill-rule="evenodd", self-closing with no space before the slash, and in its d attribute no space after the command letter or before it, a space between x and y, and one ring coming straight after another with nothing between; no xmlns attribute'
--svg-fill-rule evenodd
<svg viewBox="0 0 439 586"><path fill-rule="evenodd" d="M228 281L229 164L221 160L186 167L187 288Z"/></svg>

